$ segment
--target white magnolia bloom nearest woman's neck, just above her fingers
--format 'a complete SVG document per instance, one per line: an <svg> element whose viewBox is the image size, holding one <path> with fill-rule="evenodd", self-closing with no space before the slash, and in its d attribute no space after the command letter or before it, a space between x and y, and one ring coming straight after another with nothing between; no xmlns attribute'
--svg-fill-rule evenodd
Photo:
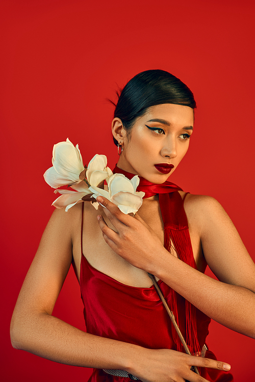
<svg viewBox="0 0 255 382"><path fill-rule="evenodd" d="M142 198L145 195L143 192L136 192L139 184L139 177L135 175L131 180L126 178L123 174L114 174L109 178L108 187L109 192L98 187L89 187L93 192L93 197L104 196L119 209L127 213L136 213L142 205Z"/></svg>

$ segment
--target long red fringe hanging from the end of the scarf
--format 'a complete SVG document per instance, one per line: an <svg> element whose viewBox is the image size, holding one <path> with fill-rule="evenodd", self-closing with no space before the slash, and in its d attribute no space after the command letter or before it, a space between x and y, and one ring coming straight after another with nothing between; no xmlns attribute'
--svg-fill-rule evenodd
<svg viewBox="0 0 255 382"><path fill-rule="evenodd" d="M175 230L165 227L164 229L164 247L170 252L171 241L174 249L179 258L186 264L196 268L195 260L192 252L190 234L188 229ZM179 326L176 292L171 289L170 292L170 308L175 316L177 325ZM199 353L200 346L197 338L197 323L196 323L196 308L189 301L185 299L185 313L186 313L186 342L189 346L191 354ZM181 329L181 328L180 328ZM177 351L183 351L183 346L172 325L172 337L176 345Z"/></svg>

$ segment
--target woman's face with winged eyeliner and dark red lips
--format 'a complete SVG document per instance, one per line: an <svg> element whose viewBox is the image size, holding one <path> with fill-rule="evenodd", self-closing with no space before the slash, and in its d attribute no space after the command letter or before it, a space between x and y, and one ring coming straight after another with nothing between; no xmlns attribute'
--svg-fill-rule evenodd
<svg viewBox="0 0 255 382"><path fill-rule="evenodd" d="M164 103L148 108L127 136L122 128L123 152L118 167L152 183L163 183L189 147L194 112L189 106ZM173 165L174 167L171 168Z"/></svg>

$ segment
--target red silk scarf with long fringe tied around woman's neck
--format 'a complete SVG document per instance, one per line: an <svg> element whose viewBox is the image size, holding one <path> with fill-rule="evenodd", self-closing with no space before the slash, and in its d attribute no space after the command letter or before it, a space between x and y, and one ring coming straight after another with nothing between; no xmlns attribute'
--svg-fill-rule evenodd
<svg viewBox="0 0 255 382"><path fill-rule="evenodd" d="M125 177L132 179L135 175L115 166L114 174L123 174ZM165 181L162 184L151 183L148 180L139 176L140 182L137 191L143 191L145 198L154 195L159 195L159 204L164 223L164 247L167 251L171 251L173 246L178 257L186 264L196 268L192 245L189 234L187 216L183 207L183 200L178 190L183 189L176 184ZM175 316L177 325L179 325L178 309L176 302L176 292L171 289L170 293L170 309ZM200 353L200 347L197 339L197 323L196 323L196 308L185 299L185 315L186 328L180 328L183 332L186 329L186 342L189 346L191 354ZM172 338L176 345L177 351L185 352L179 336L177 335L174 326L171 324ZM184 333L183 333L184 334Z"/></svg>

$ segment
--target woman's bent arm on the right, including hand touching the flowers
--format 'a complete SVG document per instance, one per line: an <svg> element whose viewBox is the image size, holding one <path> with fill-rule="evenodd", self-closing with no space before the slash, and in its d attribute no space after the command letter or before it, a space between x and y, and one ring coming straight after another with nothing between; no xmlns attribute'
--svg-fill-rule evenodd
<svg viewBox="0 0 255 382"><path fill-rule="evenodd" d="M103 202L106 214L118 233L101 216L99 225L106 242L125 260L163 280L219 323L255 338L255 265L219 203L210 197L191 199L188 218L196 221L206 261L220 281L170 255L140 217L141 222L122 214L109 201Z"/></svg>

